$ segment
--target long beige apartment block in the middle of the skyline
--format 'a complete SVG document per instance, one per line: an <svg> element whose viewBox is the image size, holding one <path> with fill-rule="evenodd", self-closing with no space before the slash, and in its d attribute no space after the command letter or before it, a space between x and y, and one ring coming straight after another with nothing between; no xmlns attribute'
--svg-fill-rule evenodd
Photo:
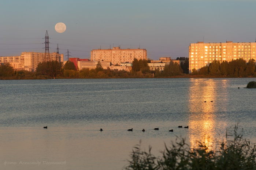
<svg viewBox="0 0 256 170"><path fill-rule="evenodd" d="M133 58L146 59L146 49L97 49L91 51L91 61L110 61L112 64L133 62Z"/></svg>

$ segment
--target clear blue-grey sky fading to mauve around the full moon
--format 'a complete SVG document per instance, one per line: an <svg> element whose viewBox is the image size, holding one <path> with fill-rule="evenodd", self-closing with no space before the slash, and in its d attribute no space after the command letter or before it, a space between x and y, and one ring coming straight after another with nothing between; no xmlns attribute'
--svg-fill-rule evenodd
<svg viewBox="0 0 256 170"><path fill-rule="evenodd" d="M256 0L1 0L0 56L50 52L90 58L90 50L145 48L148 58L188 57L204 42L255 42ZM67 29L57 33L55 24ZM42 43L42 44L41 44ZM66 58L64 58L66 59Z"/></svg>

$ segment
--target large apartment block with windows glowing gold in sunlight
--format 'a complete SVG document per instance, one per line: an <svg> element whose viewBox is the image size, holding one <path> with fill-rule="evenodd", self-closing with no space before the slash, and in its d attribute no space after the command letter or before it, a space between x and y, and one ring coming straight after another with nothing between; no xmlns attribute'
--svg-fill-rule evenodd
<svg viewBox="0 0 256 170"><path fill-rule="evenodd" d="M248 62L256 58L256 42L204 43L198 42L189 46L189 72L199 70L214 60L232 61L243 58Z"/></svg>

